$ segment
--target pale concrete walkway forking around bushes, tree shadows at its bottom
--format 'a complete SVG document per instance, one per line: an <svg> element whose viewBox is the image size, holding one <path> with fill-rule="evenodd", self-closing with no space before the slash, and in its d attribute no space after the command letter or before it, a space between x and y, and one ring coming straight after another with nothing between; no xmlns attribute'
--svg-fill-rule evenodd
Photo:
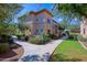
<svg viewBox="0 0 87 65"><path fill-rule="evenodd" d="M61 44L63 40L66 37L62 37L59 40L55 40L45 45L35 45L28 42L18 41L17 43L22 45L24 48L24 54L19 59L20 62L46 62L48 61L51 54L54 52L56 46Z"/></svg>

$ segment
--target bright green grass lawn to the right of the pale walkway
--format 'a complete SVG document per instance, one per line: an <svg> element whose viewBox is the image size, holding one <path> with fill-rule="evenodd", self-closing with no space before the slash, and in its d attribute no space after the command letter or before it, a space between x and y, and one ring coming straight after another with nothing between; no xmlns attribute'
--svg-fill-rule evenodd
<svg viewBox="0 0 87 65"><path fill-rule="evenodd" d="M87 61L87 51L75 40L65 40L59 44L50 61Z"/></svg>

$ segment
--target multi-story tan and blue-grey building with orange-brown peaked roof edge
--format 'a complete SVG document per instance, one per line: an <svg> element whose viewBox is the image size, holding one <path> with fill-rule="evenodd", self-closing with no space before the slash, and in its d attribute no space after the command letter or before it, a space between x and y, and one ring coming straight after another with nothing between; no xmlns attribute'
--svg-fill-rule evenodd
<svg viewBox="0 0 87 65"><path fill-rule="evenodd" d="M25 34L26 35L43 35L43 34L57 34L57 22L53 20L53 14L43 9L39 12L31 11L28 14Z"/></svg>

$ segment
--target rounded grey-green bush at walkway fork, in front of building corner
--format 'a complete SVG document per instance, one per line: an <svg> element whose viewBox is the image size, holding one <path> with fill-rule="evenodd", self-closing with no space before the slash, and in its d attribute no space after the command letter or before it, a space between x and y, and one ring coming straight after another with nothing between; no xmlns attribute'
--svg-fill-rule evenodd
<svg viewBox="0 0 87 65"><path fill-rule="evenodd" d="M46 35L35 35L30 37L29 41L34 44L45 44L50 41L50 37L47 37Z"/></svg>

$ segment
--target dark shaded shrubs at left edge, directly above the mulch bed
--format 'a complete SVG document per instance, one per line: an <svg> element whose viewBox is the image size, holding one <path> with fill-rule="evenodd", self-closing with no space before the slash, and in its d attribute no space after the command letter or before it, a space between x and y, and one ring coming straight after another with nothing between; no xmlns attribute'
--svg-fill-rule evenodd
<svg viewBox="0 0 87 65"><path fill-rule="evenodd" d="M10 35L0 35L0 54L9 52L10 48L15 48L18 45L13 42Z"/></svg>

